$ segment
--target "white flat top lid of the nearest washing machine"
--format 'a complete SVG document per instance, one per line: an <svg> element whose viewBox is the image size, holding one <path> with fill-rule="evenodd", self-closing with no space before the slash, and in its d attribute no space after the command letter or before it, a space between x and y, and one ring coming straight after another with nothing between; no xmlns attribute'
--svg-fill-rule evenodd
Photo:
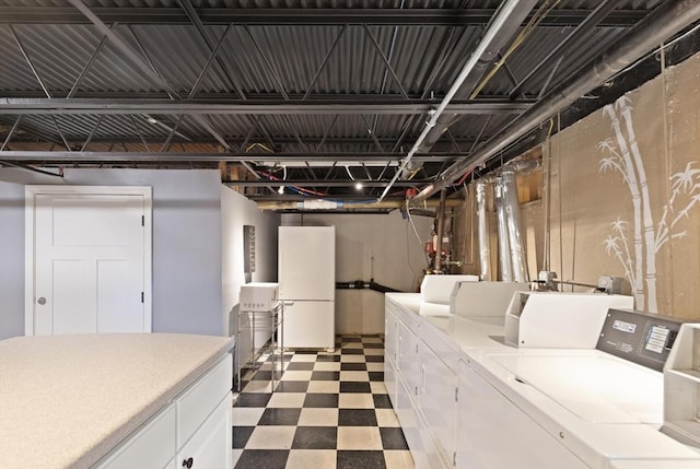
<svg viewBox="0 0 700 469"><path fill-rule="evenodd" d="M593 423L663 423L658 372L599 351L591 354L490 355L493 362L580 419ZM517 384L516 384L517 385Z"/></svg>

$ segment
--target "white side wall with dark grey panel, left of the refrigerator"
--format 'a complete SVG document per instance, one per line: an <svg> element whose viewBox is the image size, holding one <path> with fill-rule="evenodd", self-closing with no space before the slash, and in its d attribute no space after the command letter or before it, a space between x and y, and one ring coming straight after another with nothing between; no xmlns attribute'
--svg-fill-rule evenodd
<svg viewBox="0 0 700 469"><path fill-rule="evenodd" d="M225 330L231 330L232 333L237 329L237 321L231 313L238 304L241 285L247 283L243 270L243 225L255 226L255 272L249 281L277 281L277 228L280 225L280 215L259 211L255 202L222 186L222 315ZM241 337L241 342L236 344L236 351L238 350L250 350L249 337ZM247 353L244 356L247 356Z"/></svg>

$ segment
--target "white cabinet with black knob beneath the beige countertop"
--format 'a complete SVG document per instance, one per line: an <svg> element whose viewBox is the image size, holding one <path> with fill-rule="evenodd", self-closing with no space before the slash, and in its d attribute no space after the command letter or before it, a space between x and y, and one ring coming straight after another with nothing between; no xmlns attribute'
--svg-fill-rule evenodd
<svg viewBox="0 0 700 469"><path fill-rule="evenodd" d="M229 468L233 363L226 354L94 467Z"/></svg>

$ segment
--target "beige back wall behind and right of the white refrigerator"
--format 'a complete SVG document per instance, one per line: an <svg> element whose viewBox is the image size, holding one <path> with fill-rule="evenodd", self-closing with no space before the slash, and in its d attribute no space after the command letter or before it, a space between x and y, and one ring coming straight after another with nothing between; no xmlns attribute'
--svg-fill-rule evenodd
<svg viewBox="0 0 700 469"><path fill-rule="evenodd" d="M425 268L423 243L433 220L413 215L420 242L408 219L389 214L282 215L282 225L336 226L336 280L374 281L413 292ZM310 254L310 255L313 255ZM374 258L374 261L372 261ZM336 290L336 333L383 333L384 295L371 290Z"/></svg>

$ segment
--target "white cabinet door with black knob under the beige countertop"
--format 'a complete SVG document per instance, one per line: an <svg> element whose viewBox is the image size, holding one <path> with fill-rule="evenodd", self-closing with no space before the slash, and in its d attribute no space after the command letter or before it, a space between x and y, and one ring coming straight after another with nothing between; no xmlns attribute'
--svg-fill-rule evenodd
<svg viewBox="0 0 700 469"><path fill-rule="evenodd" d="M229 395L177 453L177 467L188 467L187 462L190 458L190 467L194 469L232 467L231 414L231 395Z"/></svg>

